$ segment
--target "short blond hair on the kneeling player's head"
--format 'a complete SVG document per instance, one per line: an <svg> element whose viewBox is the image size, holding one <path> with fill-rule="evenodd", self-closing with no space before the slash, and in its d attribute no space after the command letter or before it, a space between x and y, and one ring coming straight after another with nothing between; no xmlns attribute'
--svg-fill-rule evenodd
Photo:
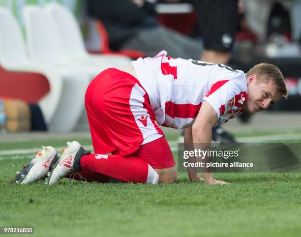
<svg viewBox="0 0 301 237"><path fill-rule="evenodd" d="M284 83L284 77L276 65L265 62L256 64L246 73L246 76L249 77L252 74L255 74L259 79L263 79L265 81L272 80L272 82L276 85L276 89L284 98L287 98L288 94Z"/></svg>

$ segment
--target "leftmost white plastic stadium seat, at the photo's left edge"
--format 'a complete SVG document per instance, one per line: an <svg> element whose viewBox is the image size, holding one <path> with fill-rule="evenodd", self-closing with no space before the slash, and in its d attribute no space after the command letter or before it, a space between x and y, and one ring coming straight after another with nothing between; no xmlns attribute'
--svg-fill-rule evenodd
<svg viewBox="0 0 301 237"><path fill-rule="evenodd" d="M79 87L86 86L88 77L85 73L62 72L49 64L31 60L17 20L3 7L0 7L0 65L7 71L33 72L46 76L50 92L39 101L39 106L49 130L63 132L74 129L84 107L84 92L78 91L79 94L73 98L71 93L77 93ZM74 84L68 85L69 81Z"/></svg>

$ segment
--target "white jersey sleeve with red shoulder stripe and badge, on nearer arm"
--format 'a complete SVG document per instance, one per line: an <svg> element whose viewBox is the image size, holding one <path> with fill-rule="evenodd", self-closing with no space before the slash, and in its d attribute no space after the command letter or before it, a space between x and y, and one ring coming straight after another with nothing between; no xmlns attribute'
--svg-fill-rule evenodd
<svg viewBox="0 0 301 237"><path fill-rule="evenodd" d="M235 105L239 107L240 104L236 102L236 96L241 94L242 90L236 80L221 80L212 85L203 101L207 101L215 110L217 118L220 118ZM246 96L241 97L241 105L245 100Z"/></svg>

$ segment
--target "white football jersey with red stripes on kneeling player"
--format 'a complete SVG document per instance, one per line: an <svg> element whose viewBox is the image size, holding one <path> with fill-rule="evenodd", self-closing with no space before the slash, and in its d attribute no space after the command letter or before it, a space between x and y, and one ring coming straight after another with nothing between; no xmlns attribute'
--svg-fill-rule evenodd
<svg viewBox="0 0 301 237"><path fill-rule="evenodd" d="M243 71L223 64L172 59L166 54L161 51L154 58L132 61L159 125L178 129L191 126L204 100L216 111L215 126L242 113L247 98Z"/></svg>

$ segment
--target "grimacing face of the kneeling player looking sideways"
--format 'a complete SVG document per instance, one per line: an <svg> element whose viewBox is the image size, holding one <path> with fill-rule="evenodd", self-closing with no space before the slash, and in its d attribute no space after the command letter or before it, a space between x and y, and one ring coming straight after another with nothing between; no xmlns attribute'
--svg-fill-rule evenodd
<svg viewBox="0 0 301 237"><path fill-rule="evenodd" d="M268 82L258 80L255 74L247 78L247 85L248 97L242 107L249 114L255 114L268 109L282 96L271 80Z"/></svg>

